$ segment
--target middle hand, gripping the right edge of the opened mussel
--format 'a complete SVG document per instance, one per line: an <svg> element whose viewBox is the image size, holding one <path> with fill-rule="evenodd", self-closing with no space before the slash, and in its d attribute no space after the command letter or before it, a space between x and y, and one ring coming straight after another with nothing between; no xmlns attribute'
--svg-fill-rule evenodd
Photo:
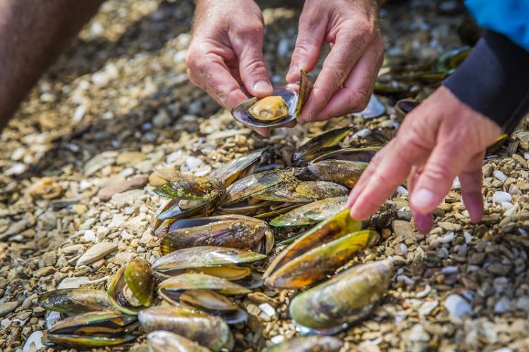
<svg viewBox="0 0 529 352"><path fill-rule="evenodd" d="M384 46L374 0L306 0L287 82L312 70L322 43L332 44L298 122L362 111L375 86Z"/></svg>

